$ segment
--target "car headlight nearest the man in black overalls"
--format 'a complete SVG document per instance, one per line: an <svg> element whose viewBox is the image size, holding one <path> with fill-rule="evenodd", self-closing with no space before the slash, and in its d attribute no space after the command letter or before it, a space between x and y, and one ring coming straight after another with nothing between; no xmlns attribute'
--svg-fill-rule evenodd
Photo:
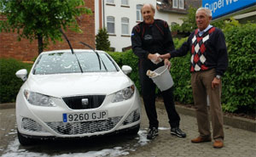
<svg viewBox="0 0 256 157"><path fill-rule="evenodd" d="M114 93L112 103L124 101L131 98L132 95L134 94L134 90L135 90L134 85L131 85L131 87L125 87L125 89L122 89L117 93Z"/></svg>

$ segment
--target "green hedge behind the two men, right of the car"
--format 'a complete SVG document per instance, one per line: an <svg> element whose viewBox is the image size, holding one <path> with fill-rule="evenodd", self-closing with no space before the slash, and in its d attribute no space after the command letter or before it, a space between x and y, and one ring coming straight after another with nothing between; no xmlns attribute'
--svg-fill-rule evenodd
<svg viewBox="0 0 256 157"><path fill-rule="evenodd" d="M222 78L222 104L224 111L247 113L256 108L256 24L240 25L236 20L225 21L224 35L229 53L229 69ZM187 38L174 39L180 48ZM119 66L130 65L131 79L140 90L137 57L128 51L110 53ZM174 81L175 100L183 104L193 104L189 73L190 54L171 60L171 74Z"/></svg>

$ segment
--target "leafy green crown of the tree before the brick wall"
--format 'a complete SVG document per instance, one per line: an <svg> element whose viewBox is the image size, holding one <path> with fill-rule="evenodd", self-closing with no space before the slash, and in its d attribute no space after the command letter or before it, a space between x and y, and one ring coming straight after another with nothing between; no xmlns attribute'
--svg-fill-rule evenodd
<svg viewBox="0 0 256 157"><path fill-rule="evenodd" d="M61 41L60 29L81 32L76 17L91 14L84 0L0 0L0 32L17 32L21 38L38 40L38 53L52 42Z"/></svg>

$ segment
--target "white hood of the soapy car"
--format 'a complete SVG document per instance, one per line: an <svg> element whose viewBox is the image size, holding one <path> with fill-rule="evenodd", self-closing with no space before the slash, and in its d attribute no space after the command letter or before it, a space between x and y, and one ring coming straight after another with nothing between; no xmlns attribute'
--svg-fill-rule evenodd
<svg viewBox="0 0 256 157"><path fill-rule="evenodd" d="M131 80L122 72L30 75L28 90L61 98L83 94L111 94L131 86Z"/></svg>

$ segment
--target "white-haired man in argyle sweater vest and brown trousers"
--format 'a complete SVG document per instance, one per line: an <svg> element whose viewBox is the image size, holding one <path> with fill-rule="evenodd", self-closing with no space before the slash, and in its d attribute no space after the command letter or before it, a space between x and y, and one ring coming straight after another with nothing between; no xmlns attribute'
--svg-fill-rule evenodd
<svg viewBox="0 0 256 157"><path fill-rule="evenodd" d="M190 51L190 72L199 137L192 143L211 142L213 148L224 146L223 112L221 108L221 77L228 68L228 53L224 34L210 25L212 13L198 8L195 14L198 29L192 32L178 50L160 55L160 59L183 56ZM207 96L212 115L212 137L207 112Z"/></svg>

